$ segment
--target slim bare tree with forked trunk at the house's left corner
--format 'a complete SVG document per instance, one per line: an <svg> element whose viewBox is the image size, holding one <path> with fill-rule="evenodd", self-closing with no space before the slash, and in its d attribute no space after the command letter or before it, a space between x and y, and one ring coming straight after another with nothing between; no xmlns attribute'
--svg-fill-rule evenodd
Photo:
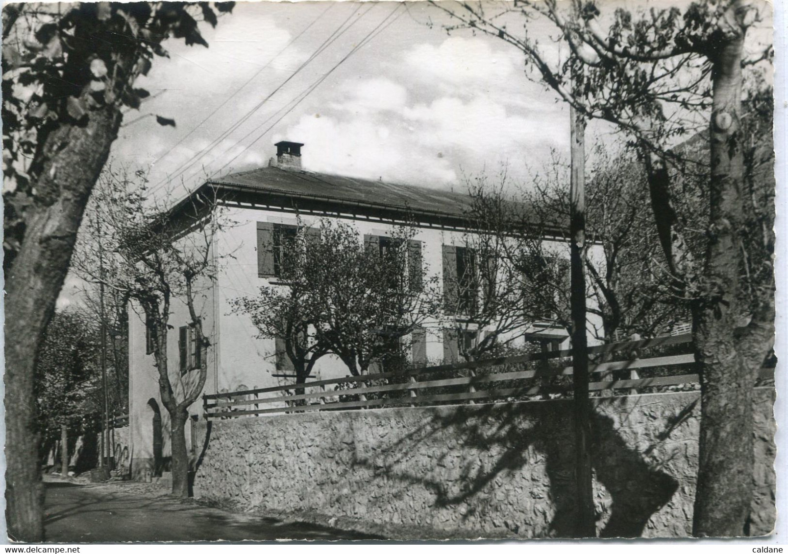
<svg viewBox="0 0 788 554"><path fill-rule="evenodd" d="M147 198L146 183L142 172L128 175L109 167L102 173L74 266L85 279L128 297L146 323L159 395L170 417L173 494L187 497L184 426L188 407L203 392L210 346L195 302L217 275L223 258L214 252L213 239L229 222L206 195L162 209ZM190 324L187 336L179 336L186 355L180 367L169 367L169 318L176 302L188 309Z"/></svg>

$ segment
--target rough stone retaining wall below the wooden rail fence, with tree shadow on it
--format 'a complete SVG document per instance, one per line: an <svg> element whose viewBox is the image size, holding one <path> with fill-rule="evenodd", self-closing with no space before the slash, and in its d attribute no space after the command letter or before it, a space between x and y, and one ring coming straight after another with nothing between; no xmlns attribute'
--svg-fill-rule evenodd
<svg viewBox="0 0 788 554"><path fill-rule="evenodd" d="M752 534L770 533L775 522L774 396L756 390ZM594 404L600 536L689 536L698 393ZM201 422L195 496L480 536L566 537L571 424L567 400Z"/></svg>

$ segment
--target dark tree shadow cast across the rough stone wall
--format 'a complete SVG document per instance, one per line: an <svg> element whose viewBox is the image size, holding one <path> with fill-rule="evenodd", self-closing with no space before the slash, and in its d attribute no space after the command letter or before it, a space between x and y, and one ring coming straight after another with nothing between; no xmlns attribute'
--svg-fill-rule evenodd
<svg viewBox="0 0 788 554"><path fill-rule="evenodd" d="M499 477L521 471L527 465L544 464L549 480L548 500L552 504L548 536L573 536L576 517L574 436L570 410L556 409L552 402L452 408L446 412L433 412L420 428L379 451L377 456L382 456L385 461L357 458L355 463L377 469L387 467L389 480L397 479L430 489L436 495L436 507L466 503L491 484L496 484ZM641 454L619 436L613 420L607 415L595 412L592 427L593 470L597 483L601 483L609 493L607 512L610 516L599 530L599 536L640 537L651 516L671 500L678 489L678 482L663 471L650 467ZM483 467L473 459L474 456L465 456L460 468L459 490L457 486L450 490L444 480L431 480L407 469L391 471L394 466L407 468L407 464L399 464L407 456L405 452L413 452L422 443L440 442L440 438L435 436L447 434L447 431L450 431L448 435L460 438L466 452L469 449L487 454L496 452L493 464ZM451 447L437 456L438 466L444 464L450 451ZM528 493L537 495L533 496L535 500L541 500L536 489ZM547 504L545 500L541 502ZM464 517L470 515L472 513L467 512ZM518 533L519 530L511 531Z"/></svg>

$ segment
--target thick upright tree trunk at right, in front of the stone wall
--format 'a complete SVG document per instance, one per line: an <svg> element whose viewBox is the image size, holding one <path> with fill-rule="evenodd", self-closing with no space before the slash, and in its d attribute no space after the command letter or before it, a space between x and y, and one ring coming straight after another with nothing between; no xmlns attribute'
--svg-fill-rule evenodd
<svg viewBox="0 0 788 554"><path fill-rule="evenodd" d="M742 248L743 33L723 42L712 60L710 226L705 296L693 305L693 346L701 375L701 435L693 534L746 534L753 498L753 385L756 375L738 351Z"/></svg>

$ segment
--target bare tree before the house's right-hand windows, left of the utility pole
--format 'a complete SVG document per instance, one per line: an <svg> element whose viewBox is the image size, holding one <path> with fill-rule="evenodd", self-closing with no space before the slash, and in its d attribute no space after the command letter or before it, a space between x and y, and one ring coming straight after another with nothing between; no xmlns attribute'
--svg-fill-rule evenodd
<svg viewBox="0 0 788 554"><path fill-rule="evenodd" d="M467 184L472 231L443 251L444 332L458 356L477 360L519 344L534 324L566 327L556 295L566 294L560 283L568 273L559 274L568 269L561 249L546 252L548 223L505 193L505 169L496 183L481 175Z"/></svg>

